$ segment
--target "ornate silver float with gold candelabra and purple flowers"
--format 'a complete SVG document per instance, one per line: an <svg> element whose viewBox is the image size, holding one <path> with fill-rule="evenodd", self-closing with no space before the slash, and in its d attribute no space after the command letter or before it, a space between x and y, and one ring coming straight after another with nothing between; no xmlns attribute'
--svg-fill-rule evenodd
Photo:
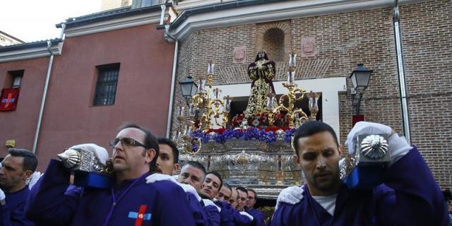
<svg viewBox="0 0 452 226"><path fill-rule="evenodd" d="M302 172L293 159L292 135L300 124L316 120L320 94L306 93L297 87L296 57L290 54L287 82L283 83L287 93L279 100L274 89L270 92L268 87L263 88L263 82L256 87L256 76L274 66L268 64L268 59L262 57L260 62L256 57L254 66L249 67L257 75L249 73L256 80L248 107L243 114L231 116L232 120L228 119L232 98L220 98L221 90L213 88L215 64L210 61L207 76L199 76L197 92L189 98L188 109L183 104L177 107L178 126L172 138L181 152L181 167L189 160L201 162L207 171L220 172L232 186L251 187L263 198L275 198L286 186L301 184ZM269 92L263 97L259 90L265 89ZM305 97L309 98L310 117L295 107ZM253 112L248 111L251 100L255 104Z"/></svg>

